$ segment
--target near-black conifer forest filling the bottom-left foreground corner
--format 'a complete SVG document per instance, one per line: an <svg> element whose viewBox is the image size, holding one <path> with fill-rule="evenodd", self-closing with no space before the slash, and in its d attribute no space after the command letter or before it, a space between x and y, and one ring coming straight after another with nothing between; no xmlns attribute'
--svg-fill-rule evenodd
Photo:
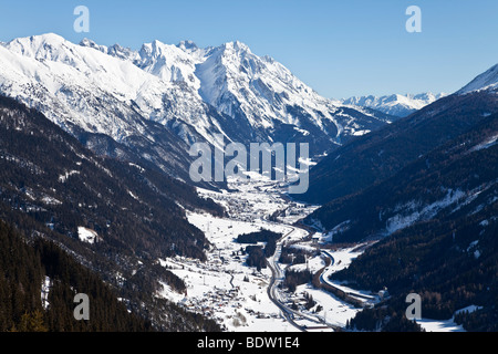
<svg viewBox="0 0 498 354"><path fill-rule="evenodd" d="M46 309L41 291L50 279ZM89 295L89 321L74 319L76 293ZM0 221L0 331L151 331L149 322L128 313L115 292L54 243L28 243Z"/></svg>

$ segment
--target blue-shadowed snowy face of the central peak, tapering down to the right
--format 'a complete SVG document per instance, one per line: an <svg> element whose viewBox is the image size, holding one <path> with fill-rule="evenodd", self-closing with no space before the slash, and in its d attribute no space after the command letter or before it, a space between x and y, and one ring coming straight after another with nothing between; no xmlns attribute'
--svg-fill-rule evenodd
<svg viewBox="0 0 498 354"><path fill-rule="evenodd" d="M385 117L359 110L344 112L281 63L253 54L245 43L225 43L204 52L204 62L196 70L203 100L253 127L256 136L268 135L281 142L289 137L309 140L311 134L317 142L314 148L326 149L359 131L385 124ZM289 126L292 128L282 136L280 132Z"/></svg>

